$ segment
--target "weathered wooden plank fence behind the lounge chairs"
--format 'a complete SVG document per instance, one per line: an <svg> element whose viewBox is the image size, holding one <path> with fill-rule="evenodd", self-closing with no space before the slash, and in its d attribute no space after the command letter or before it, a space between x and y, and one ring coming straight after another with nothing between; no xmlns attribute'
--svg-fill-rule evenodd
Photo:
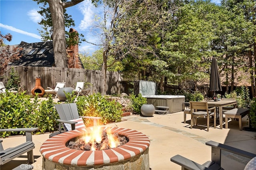
<svg viewBox="0 0 256 170"><path fill-rule="evenodd" d="M8 66L6 73L0 77L0 81L7 83L7 78L10 77L11 67L14 67L20 77L21 90L26 90L31 94L31 90L35 86L36 78L41 78L41 86L44 89L47 87L54 88L56 82L66 82L65 87L76 87L76 82L88 82L90 89L89 94L98 93L101 91L101 77L99 70L85 70L74 68L60 68L60 67L32 67L32 66ZM128 93L128 89L133 88L126 82L119 79L118 72L107 71L106 73L106 93L108 95L115 93Z"/></svg>

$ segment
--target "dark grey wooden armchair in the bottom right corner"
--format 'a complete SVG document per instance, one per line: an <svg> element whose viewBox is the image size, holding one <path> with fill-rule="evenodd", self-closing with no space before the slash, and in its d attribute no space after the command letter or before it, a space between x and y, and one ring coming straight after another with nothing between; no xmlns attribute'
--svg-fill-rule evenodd
<svg viewBox="0 0 256 170"><path fill-rule="evenodd" d="M171 158L171 161L180 165L182 167L182 170L222 170L221 167L221 152L222 150L225 150L227 152L238 154L239 156L243 156L246 158L254 158L256 154L253 154L251 152L247 152L245 150L240 150L238 148L234 148L232 146L228 146L225 144L221 144L214 141L208 141L206 142L206 145L212 147L212 153L211 153L211 160L205 162L204 164L198 164L188 158L185 158L181 155L175 155Z"/></svg>

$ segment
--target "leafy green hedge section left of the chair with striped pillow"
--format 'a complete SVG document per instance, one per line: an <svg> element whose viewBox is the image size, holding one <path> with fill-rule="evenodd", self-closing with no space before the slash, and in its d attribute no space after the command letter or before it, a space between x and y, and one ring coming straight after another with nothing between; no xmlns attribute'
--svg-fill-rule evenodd
<svg viewBox="0 0 256 170"><path fill-rule="evenodd" d="M54 131L58 127L58 115L51 98L39 103L38 96L31 100L26 91L19 94L0 93L0 128L38 127L37 133ZM13 132L18 134L18 132ZM1 132L0 136L10 136L12 132ZM20 132L24 134L24 132Z"/></svg>

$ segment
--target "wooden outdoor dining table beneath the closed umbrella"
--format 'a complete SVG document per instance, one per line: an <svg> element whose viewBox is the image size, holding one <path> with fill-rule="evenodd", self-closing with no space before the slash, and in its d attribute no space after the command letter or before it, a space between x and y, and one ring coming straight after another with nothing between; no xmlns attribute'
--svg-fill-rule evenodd
<svg viewBox="0 0 256 170"><path fill-rule="evenodd" d="M220 117L220 129L223 127L222 123L222 107L234 105L234 108L237 106L237 101L236 100L220 100L220 101L207 101L208 107L218 107L219 109L219 117Z"/></svg>

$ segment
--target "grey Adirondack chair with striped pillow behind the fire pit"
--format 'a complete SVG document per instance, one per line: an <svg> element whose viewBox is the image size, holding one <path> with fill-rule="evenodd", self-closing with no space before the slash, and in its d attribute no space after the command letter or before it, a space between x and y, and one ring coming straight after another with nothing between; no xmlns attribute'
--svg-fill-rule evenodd
<svg viewBox="0 0 256 170"><path fill-rule="evenodd" d="M50 134L50 137L61 133L62 125L66 131L69 131L76 128L85 128L83 118L93 119L94 126L97 126L97 120L101 119L101 117L79 116L76 103L56 104L55 108L60 116L60 119L57 119L59 122L59 131Z"/></svg>

